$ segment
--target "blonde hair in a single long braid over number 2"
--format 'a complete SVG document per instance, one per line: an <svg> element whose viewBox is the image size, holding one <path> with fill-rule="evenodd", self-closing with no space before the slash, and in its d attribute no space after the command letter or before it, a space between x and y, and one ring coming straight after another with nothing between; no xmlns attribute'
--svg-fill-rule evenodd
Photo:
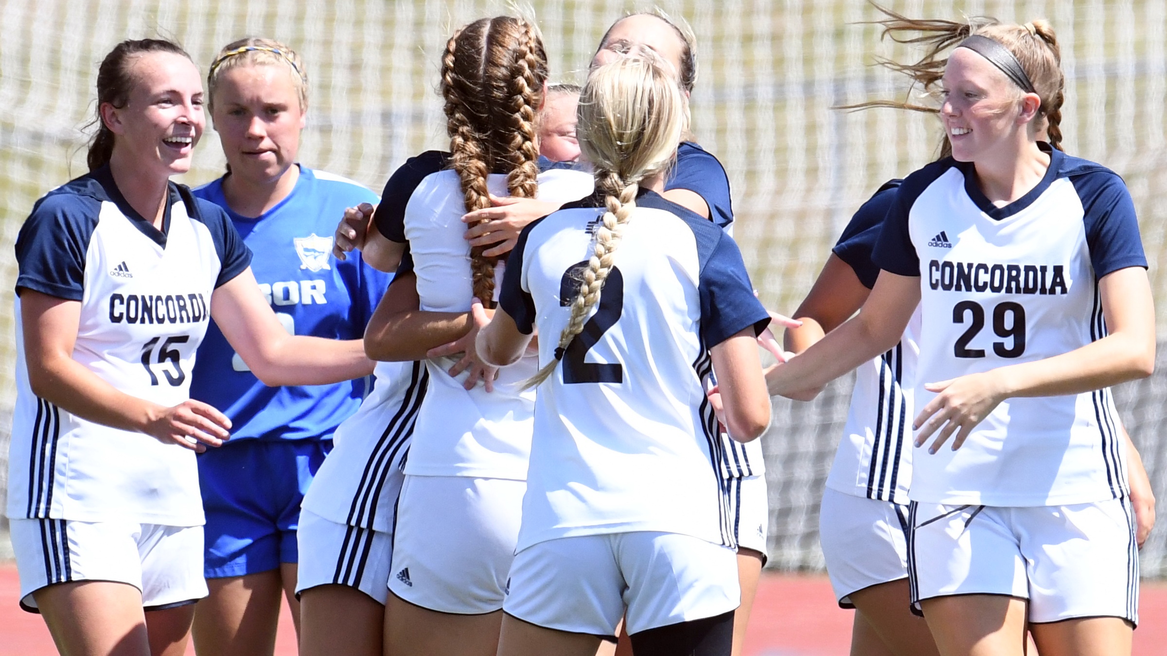
<svg viewBox="0 0 1167 656"><path fill-rule="evenodd" d="M677 85L672 65L649 49L640 49L592 71L580 95L580 149L595 169L595 188L605 212L594 230L594 246L572 314L559 335L555 358L526 381L546 381L572 340L584 330L592 308L615 266L616 247L636 210L640 182L665 173L689 125L689 103Z"/></svg>

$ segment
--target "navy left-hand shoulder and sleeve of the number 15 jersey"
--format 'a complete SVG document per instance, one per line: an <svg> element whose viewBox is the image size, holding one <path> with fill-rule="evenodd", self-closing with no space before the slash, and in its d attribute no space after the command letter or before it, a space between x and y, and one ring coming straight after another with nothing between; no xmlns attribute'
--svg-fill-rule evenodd
<svg viewBox="0 0 1167 656"><path fill-rule="evenodd" d="M16 236L16 291L79 301L85 287L85 253L109 196L91 175L49 191Z"/></svg>

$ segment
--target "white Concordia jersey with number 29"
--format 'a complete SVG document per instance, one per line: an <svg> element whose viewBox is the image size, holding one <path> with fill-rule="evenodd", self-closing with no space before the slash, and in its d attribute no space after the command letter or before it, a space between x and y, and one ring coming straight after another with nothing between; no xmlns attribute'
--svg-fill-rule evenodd
<svg viewBox="0 0 1167 656"><path fill-rule="evenodd" d="M1048 146L1046 146L1048 151ZM899 190L875 249L880 267L920 275L915 403L924 383L1033 362L1102 339L1098 279L1146 266L1121 179L1050 154L1032 191L994 207L972 165L945 159ZM1126 494L1125 448L1110 390L1011 398L958 451L918 452L914 501L1058 505Z"/></svg>

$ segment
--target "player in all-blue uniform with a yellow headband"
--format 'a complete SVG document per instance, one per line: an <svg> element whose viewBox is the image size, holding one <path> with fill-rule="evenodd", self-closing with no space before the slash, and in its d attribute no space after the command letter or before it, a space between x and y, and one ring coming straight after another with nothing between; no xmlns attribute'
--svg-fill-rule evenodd
<svg viewBox="0 0 1167 656"><path fill-rule="evenodd" d="M361 340L390 277L359 257L333 258L330 233L345 208L376 195L296 163L308 109L303 61L277 41L243 39L219 51L207 90L229 172L195 196L231 217L288 333ZM233 431L230 444L198 458L210 588L195 614L200 654L271 654L281 591L299 631L300 503L364 392L364 379L270 388L210 324L190 395L226 414Z"/></svg>

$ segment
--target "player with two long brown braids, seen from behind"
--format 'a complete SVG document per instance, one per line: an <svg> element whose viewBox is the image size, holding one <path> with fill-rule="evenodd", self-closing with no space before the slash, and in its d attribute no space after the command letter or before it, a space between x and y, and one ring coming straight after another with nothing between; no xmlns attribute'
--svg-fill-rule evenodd
<svg viewBox="0 0 1167 656"><path fill-rule="evenodd" d="M459 221L489 193L538 194L557 207L591 193L587 174L538 173L534 117L546 76L541 40L526 21L482 19L450 37L441 84L450 153L425 153L393 174L364 244L366 256L370 246L392 258L407 246L411 256L366 328L371 357L424 360L471 328L473 296L494 298L495 258L470 249ZM401 307L420 309L394 312ZM426 362L393 533L385 615L393 654L497 648L526 487L534 393L519 383L534 371L529 363L475 386L455 360Z"/></svg>

